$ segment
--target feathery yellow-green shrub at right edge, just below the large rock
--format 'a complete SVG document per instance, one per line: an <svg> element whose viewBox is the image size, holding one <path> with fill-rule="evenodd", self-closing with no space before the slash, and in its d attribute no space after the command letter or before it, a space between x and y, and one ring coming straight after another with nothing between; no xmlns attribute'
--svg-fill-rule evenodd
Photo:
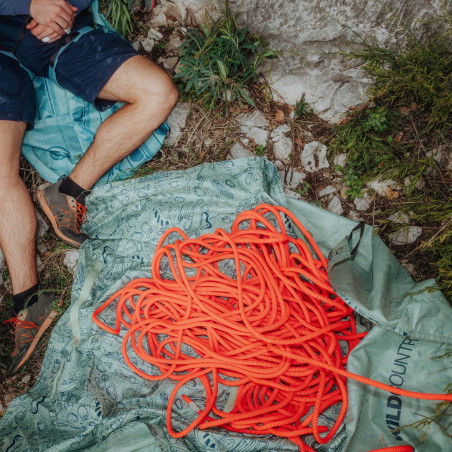
<svg viewBox="0 0 452 452"><path fill-rule="evenodd" d="M405 48L385 49L364 43L351 54L365 62L373 76L373 95L381 104L408 109L422 117L424 132L452 126L452 64L450 32L411 37Z"/></svg>

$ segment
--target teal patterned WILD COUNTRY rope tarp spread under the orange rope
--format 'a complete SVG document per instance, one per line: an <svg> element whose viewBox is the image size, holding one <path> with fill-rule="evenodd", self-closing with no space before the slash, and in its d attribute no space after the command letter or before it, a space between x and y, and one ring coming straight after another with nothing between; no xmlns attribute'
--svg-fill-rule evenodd
<svg viewBox="0 0 452 452"><path fill-rule="evenodd" d="M71 306L52 332L37 382L13 400L0 419L0 450L297 450L285 439L222 429L195 429L182 439L170 437L166 405L175 383L146 381L134 374L123 360L121 337L98 328L91 319L95 308L116 290L134 278L151 276L156 244L168 228L179 227L191 237L218 227L228 230L239 212L260 203L288 206L326 254L347 249L336 245L356 226L303 201L286 199L276 168L260 158L204 164L96 187L87 198L84 229L89 240L81 249ZM348 369L405 389L443 392L452 381L452 369L432 358L450 349L442 338L451 340L452 310L439 292L419 292L425 284L411 280L372 228L364 229L356 249L354 256L341 259L331 270L333 286L347 302L360 312L373 312L377 320L352 352ZM111 324L114 313L104 314L102 318ZM433 321L435 330L431 330ZM372 326L364 318L360 324ZM402 430L396 437L386 416L399 416L400 425L406 425L432 415L434 403L406 398L399 402L391 394L352 381L347 384L347 424L328 445L318 446L312 437L305 438L306 442L321 452L420 444L422 431ZM183 393L203 406L201 384L186 386ZM173 427L179 431L197 416L181 395L173 413ZM222 387L219 406L231 406L233 401L231 388ZM338 410L339 406L332 407L321 422L331 425ZM419 450L448 450L448 441L433 424L422 443L425 447Z"/></svg>

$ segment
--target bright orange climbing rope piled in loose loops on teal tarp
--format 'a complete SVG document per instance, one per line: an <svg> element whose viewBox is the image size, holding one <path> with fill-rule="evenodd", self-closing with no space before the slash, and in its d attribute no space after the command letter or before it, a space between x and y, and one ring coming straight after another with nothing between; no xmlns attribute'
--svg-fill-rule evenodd
<svg viewBox="0 0 452 452"><path fill-rule="evenodd" d="M288 219L303 240L288 233ZM174 240L176 234L182 240ZM283 207L242 212L230 233L217 229L190 239L171 228L157 245L151 269L152 278L131 281L93 319L113 334L127 329L122 352L138 375L177 381L167 408L167 428L175 438L195 427L221 426L286 437L301 451L312 451L302 437L313 435L325 444L344 419L346 378L407 397L452 400L450 394L406 391L345 370L365 333L357 332L353 310L332 289L317 244ZM114 326L99 319L110 309L116 311ZM151 374L149 364L160 374ZM173 403L194 379L204 386L205 406L181 395L198 417L176 432ZM219 384L237 387L230 412L216 406ZM337 404L334 425L322 425L321 413Z"/></svg>

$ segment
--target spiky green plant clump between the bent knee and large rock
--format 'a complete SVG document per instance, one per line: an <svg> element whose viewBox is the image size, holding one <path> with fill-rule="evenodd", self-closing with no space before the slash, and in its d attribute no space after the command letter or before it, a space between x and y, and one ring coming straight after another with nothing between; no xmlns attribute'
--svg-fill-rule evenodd
<svg viewBox="0 0 452 452"><path fill-rule="evenodd" d="M238 27L227 2L224 16L190 29L179 51L175 78L184 83L184 91L210 107L224 104L226 111L233 102L254 105L248 85L258 80L260 64L277 56L266 42Z"/></svg>

